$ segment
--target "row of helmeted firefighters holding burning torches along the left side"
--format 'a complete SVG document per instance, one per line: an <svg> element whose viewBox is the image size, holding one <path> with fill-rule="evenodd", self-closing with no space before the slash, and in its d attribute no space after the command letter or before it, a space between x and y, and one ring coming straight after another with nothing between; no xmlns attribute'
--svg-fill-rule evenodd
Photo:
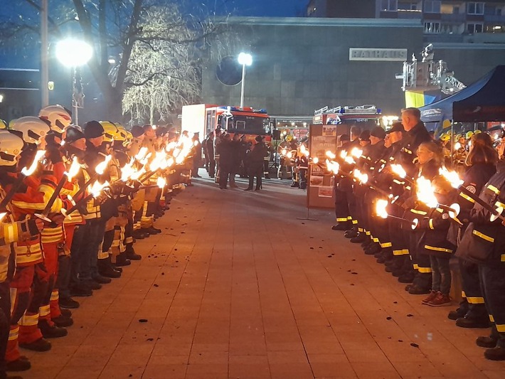
<svg viewBox="0 0 505 379"><path fill-rule="evenodd" d="M45 107L0 123L0 379L49 351L77 297L121 277L135 240L191 185L196 144L174 129L90 121ZM9 378L20 378L9 376Z"/></svg>

